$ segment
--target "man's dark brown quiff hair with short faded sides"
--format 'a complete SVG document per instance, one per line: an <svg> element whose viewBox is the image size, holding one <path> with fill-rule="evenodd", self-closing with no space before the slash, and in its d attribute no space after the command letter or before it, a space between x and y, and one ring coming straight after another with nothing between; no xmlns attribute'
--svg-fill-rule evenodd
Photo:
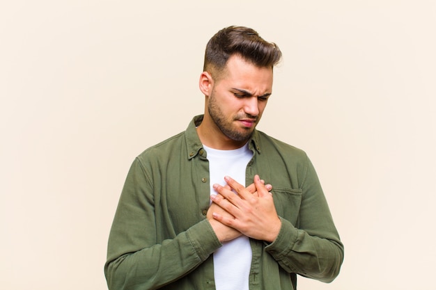
<svg viewBox="0 0 436 290"><path fill-rule="evenodd" d="M240 55L258 67L274 67L281 59L275 43L267 42L259 34L244 26L228 26L218 31L206 45L203 71L220 74L228 58ZM213 76L214 79L217 76Z"/></svg>

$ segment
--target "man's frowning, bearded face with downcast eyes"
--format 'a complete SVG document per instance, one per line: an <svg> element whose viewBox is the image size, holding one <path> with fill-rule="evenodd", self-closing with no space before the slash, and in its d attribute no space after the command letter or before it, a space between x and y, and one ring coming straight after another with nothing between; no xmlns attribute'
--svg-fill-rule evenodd
<svg viewBox="0 0 436 290"><path fill-rule="evenodd" d="M231 56L207 99L210 119L227 138L247 141L272 93L272 68Z"/></svg>

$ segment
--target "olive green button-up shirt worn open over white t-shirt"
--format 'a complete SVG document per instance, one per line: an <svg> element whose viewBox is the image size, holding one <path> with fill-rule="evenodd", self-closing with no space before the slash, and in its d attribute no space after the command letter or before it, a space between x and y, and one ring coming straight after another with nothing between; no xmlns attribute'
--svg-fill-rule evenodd
<svg viewBox="0 0 436 290"><path fill-rule="evenodd" d="M186 131L132 163L109 236L109 289L215 289L212 254L221 243L206 219L209 163L196 133L201 120L196 116ZM249 288L295 289L296 274L331 282L343 245L308 157L257 130L249 149L246 184L256 174L272 184L281 218L274 242L250 240Z"/></svg>

